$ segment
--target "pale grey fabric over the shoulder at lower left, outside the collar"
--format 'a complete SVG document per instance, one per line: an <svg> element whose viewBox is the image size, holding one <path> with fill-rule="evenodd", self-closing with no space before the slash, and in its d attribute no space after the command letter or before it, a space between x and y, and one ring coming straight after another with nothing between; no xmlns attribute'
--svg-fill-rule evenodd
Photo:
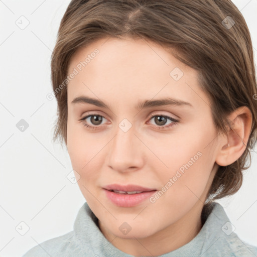
<svg viewBox="0 0 257 257"><path fill-rule="evenodd" d="M76 246L74 245L74 232L71 231L39 243L27 251L22 257L69 256L67 255L67 250L73 247Z"/></svg>

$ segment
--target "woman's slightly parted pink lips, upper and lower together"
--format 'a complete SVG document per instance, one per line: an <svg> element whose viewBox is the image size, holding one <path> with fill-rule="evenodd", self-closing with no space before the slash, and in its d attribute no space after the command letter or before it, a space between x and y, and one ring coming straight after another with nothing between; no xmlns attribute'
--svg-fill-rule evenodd
<svg viewBox="0 0 257 257"><path fill-rule="evenodd" d="M116 206L119 207L133 207L136 206L142 202L144 202L146 199L149 199L155 192L156 189L141 187L137 185L118 185L118 184L112 184L105 186L103 188L107 198ZM110 190L119 190L119 191L143 191L142 193L138 194L120 194L115 193Z"/></svg>

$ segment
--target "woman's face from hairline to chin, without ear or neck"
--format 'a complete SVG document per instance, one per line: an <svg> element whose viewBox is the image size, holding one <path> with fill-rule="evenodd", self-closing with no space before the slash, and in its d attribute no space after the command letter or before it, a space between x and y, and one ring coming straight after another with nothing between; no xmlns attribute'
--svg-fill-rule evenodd
<svg viewBox="0 0 257 257"><path fill-rule="evenodd" d="M109 38L77 51L68 75L68 153L100 227L144 238L199 216L217 144L197 72L161 46Z"/></svg>

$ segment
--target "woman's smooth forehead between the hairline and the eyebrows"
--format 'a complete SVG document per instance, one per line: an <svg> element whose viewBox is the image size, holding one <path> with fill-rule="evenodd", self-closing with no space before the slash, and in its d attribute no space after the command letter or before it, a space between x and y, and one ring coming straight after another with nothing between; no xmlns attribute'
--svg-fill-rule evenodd
<svg viewBox="0 0 257 257"><path fill-rule="evenodd" d="M68 84L70 98L81 93L94 98L110 96L111 100L122 95L124 100L129 96L174 96L185 101L205 97L197 96L200 88L196 70L162 46L143 39L105 38L93 42L72 56L68 74L74 69L78 74Z"/></svg>

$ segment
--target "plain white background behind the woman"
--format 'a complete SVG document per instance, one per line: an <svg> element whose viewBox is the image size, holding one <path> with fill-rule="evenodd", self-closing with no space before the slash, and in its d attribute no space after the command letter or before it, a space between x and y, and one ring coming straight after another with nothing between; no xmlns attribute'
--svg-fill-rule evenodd
<svg viewBox="0 0 257 257"><path fill-rule="evenodd" d="M21 256L37 243L71 231L85 202L77 184L66 177L72 170L67 151L52 142L57 104L55 99L46 98L52 92L50 56L69 2L0 1L2 257ZM257 0L233 2L249 27L256 60ZM24 30L16 25L21 16L29 21ZM25 132L16 127L21 119L29 123ZM257 245L256 168L256 153L252 153L252 165L239 192L219 201L235 232L254 245ZM16 230L22 221L30 228L25 235ZM20 232L26 229L24 224L18 227Z"/></svg>

